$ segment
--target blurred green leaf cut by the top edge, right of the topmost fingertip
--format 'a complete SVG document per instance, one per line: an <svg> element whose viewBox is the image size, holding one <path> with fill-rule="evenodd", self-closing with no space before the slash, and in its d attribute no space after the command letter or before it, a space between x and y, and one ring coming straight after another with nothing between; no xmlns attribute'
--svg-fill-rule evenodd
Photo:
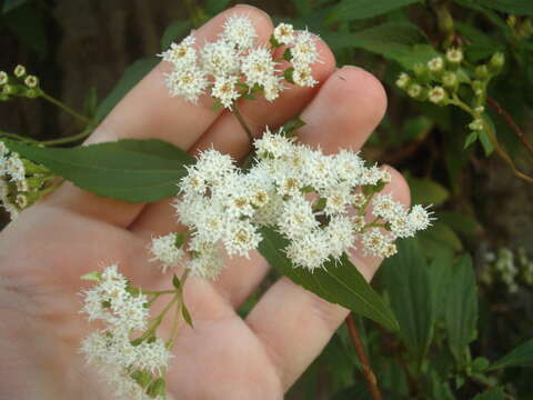
<svg viewBox="0 0 533 400"><path fill-rule="evenodd" d="M355 21L378 17L420 0L341 0L325 18L324 23Z"/></svg>

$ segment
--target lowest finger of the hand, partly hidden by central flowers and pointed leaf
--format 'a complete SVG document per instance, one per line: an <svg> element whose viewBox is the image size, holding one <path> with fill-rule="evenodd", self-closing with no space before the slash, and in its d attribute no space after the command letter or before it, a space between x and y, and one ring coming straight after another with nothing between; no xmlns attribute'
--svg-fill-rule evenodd
<svg viewBox="0 0 533 400"><path fill-rule="evenodd" d="M395 200L409 203L409 187L399 172L384 189ZM370 280L381 259L351 254L352 262ZM349 311L306 291L286 278L280 279L250 312L247 322L262 341L285 390L320 354Z"/></svg>

